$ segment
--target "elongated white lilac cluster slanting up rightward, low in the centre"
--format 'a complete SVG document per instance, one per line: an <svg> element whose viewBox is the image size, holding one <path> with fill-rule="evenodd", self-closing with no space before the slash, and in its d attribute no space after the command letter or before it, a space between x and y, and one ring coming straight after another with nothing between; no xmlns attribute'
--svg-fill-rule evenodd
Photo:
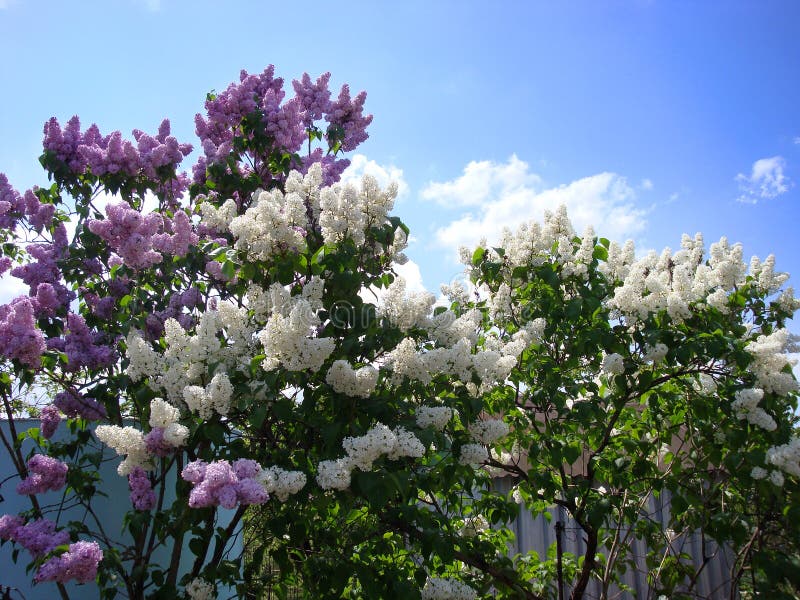
<svg viewBox="0 0 800 600"><path fill-rule="evenodd" d="M369 471L381 456L394 460L402 457L419 458L425 454L425 446L413 433L403 427L392 430L382 423L362 436L346 437L342 447L347 456L319 464L317 483L323 489L346 489L350 485L353 469Z"/></svg>

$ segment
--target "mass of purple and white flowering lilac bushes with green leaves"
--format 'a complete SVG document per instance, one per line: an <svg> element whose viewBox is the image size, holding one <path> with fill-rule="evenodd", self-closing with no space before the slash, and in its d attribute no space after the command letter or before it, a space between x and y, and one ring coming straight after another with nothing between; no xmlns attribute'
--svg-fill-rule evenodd
<svg viewBox="0 0 800 600"><path fill-rule="evenodd" d="M694 531L730 548L732 593L792 585L800 303L774 259L688 236L637 258L561 210L464 250L472 288L408 293L397 187L337 183L366 96L329 83L287 98L243 71L195 118L191 175L169 121L75 117L45 125L51 185L0 176L0 275L28 287L0 306L0 441L30 501L0 540L37 585L539 600L561 570L577 599L639 569L685 597L705 562L672 543ZM93 509L108 462L121 535ZM667 520L641 518L662 494ZM566 573L510 550L521 506L580 530Z"/></svg>

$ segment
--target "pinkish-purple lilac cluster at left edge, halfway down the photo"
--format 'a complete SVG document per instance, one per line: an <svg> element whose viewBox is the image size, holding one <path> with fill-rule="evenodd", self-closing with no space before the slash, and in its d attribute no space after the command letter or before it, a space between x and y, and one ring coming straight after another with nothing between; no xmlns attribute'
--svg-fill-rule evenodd
<svg viewBox="0 0 800 600"><path fill-rule="evenodd" d="M46 345L36 328L33 301L20 297L0 305L0 356L39 368Z"/></svg>

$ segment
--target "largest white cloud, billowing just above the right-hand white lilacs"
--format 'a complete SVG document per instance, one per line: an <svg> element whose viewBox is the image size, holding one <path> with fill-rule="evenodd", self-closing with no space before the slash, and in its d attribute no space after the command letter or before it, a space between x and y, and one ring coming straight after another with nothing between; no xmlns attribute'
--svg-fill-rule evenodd
<svg viewBox="0 0 800 600"><path fill-rule="evenodd" d="M512 156L500 165L471 162L462 176L431 183L421 195L450 206L460 198L462 206L474 207L436 231L438 243L454 250L474 246L481 238L496 241L504 228L513 231L523 222L541 221L546 210L562 204L579 233L592 225L598 235L624 241L644 229L646 211L636 206L635 190L620 175L599 173L554 188L539 187L541 179Z"/></svg>

